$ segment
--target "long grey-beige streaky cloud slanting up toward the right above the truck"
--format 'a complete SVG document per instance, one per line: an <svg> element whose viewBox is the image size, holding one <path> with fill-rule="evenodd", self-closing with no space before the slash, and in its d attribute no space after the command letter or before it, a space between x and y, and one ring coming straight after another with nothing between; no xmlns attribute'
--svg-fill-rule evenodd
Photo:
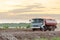
<svg viewBox="0 0 60 40"><path fill-rule="evenodd" d="M9 13L24 13L24 12L42 12L44 10L32 10L32 8L45 8L41 4L37 5L29 5L24 9L14 9L12 11L8 11Z"/></svg>

